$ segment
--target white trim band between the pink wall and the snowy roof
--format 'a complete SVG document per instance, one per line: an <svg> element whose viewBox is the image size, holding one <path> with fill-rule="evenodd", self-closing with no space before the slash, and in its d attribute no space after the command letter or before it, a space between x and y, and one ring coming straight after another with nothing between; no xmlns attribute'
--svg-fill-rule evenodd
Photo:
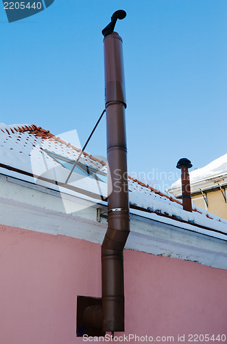
<svg viewBox="0 0 227 344"><path fill-rule="evenodd" d="M102 243L107 223L104 216L101 223L97 222L97 206L102 211L106 211L106 206L89 202L88 208L67 214L61 198L53 194L55 191L41 193L36 187L29 189L27 185L8 182L2 176L0 186L0 224ZM29 204L31 202L33 204ZM78 199L77 203L80 202L82 200ZM174 219L163 223L162 218L133 209L126 249L227 269L227 241L208 236L206 231L198 233L192 224L183 227Z"/></svg>

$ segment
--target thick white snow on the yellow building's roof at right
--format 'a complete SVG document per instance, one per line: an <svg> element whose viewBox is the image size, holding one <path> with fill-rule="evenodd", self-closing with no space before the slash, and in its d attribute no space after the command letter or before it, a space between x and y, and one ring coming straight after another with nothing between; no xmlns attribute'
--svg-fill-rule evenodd
<svg viewBox="0 0 227 344"><path fill-rule="evenodd" d="M227 173L227 153L220 156L219 158L210 162L201 169L195 169L194 171L189 172L191 184L195 182L200 182L202 180L207 180L210 178L218 178ZM175 189L181 186L181 180L178 179L174 182L169 190Z"/></svg>

